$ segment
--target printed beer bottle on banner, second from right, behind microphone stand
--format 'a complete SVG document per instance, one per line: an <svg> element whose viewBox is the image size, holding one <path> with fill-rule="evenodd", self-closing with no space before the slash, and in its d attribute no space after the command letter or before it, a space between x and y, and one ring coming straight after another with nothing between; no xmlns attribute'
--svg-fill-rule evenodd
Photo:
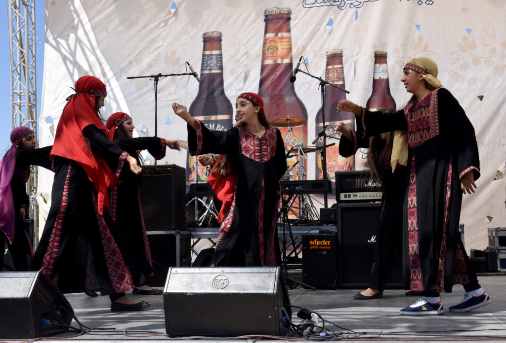
<svg viewBox="0 0 506 343"><path fill-rule="evenodd" d="M325 80L340 88L346 89L345 74L343 67L343 50L328 50L327 63L325 67ZM335 172L343 172L355 170L355 156L343 157L339 154L339 136L335 131L335 127L340 122L344 122L348 128L355 128L355 115L352 112L338 113L335 110L338 102L346 99L346 93L340 89L325 85L325 134L327 135L327 144L335 143L335 145L326 149L327 154L327 178L334 181ZM316 113L315 119L315 136L323 129L322 108ZM335 138L332 138L335 137ZM338 138L338 139L336 139ZM316 146L323 145L323 137L318 138ZM316 179L323 179L321 153L316 156Z"/></svg>

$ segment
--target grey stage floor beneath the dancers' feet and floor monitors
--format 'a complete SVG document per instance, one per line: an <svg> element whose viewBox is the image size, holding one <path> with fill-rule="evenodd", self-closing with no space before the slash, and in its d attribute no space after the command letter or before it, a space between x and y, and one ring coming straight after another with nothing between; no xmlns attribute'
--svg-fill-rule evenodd
<svg viewBox="0 0 506 343"><path fill-rule="evenodd" d="M416 301L416 297L406 297L403 290L386 290L381 299L354 300L353 295L360 290L317 290L303 288L289 290L293 306L306 307L318 312L341 328L334 331L356 333L342 334L343 339L375 341L434 341L434 340L476 340L503 338L506 340L506 273L484 273L479 275L482 287L488 292L492 303L468 313L450 313L448 307L458 303L463 296L463 288L457 285L451 294L442 296L445 307L444 315L439 316L401 316L399 310ZM110 311L109 297L88 297L85 294L67 294L78 320L90 328L115 328L115 330L93 330L64 341L90 342L111 340L159 341L160 339L177 339L179 341L245 341L251 342L255 337L219 338L219 337L182 337L169 338L165 335L163 297L135 296L135 299L149 301L151 307L142 312ZM299 324L296 316L298 309L293 309L293 323ZM177 309L174 309L177 311ZM217 309L219 313L219 309ZM226 314L222 315L227 320ZM72 326L78 327L75 321ZM195 323L197 326L198 323ZM326 324L328 327L330 324ZM149 332L148 332L149 331ZM251 332L254 334L254 332ZM61 334L69 336L71 332ZM0 337L1 339L2 337ZM57 338L57 337L54 337ZM294 336L293 338L301 338ZM265 337L262 340L270 340ZM9 340L14 341L14 340ZM45 342L61 342L60 339L45 339Z"/></svg>

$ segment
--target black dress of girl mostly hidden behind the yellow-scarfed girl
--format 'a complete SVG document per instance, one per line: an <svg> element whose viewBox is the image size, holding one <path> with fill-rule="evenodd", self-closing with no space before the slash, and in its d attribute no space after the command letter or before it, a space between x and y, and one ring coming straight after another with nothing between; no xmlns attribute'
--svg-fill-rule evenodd
<svg viewBox="0 0 506 343"><path fill-rule="evenodd" d="M360 123L357 120L358 123ZM360 127L360 126L359 126ZM358 138L353 132L354 141L341 136L339 142L339 154L349 157L357 152L357 148L368 148L369 138ZM393 133L391 133L393 134ZM361 135L359 132L358 135ZM374 245L374 259L368 288L383 291L388 275L394 263L395 252L402 252L402 230L403 230L403 202L404 188L406 184L406 166L397 164L392 173L390 156L392 151L384 155L381 161L383 169L382 177L382 206L377 227L377 240ZM402 254L399 254L402 255Z"/></svg>

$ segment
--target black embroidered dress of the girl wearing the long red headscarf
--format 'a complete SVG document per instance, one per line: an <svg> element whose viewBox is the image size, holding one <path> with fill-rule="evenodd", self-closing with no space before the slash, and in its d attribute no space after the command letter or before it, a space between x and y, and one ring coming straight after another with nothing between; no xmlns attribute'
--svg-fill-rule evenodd
<svg viewBox="0 0 506 343"><path fill-rule="evenodd" d="M93 153L119 175L128 154L94 125L82 134ZM53 279L63 293L114 294L134 288L121 253L128 250L109 213L99 214L97 192L85 170L59 156L54 156L54 168L51 208L32 267Z"/></svg>

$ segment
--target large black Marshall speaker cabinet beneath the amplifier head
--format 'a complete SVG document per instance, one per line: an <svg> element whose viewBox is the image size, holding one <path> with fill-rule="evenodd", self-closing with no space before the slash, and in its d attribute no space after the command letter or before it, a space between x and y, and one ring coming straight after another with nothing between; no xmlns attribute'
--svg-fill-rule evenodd
<svg viewBox="0 0 506 343"><path fill-rule="evenodd" d="M381 203L338 204L339 287L367 288ZM402 289L402 256L396 251L386 289Z"/></svg>

